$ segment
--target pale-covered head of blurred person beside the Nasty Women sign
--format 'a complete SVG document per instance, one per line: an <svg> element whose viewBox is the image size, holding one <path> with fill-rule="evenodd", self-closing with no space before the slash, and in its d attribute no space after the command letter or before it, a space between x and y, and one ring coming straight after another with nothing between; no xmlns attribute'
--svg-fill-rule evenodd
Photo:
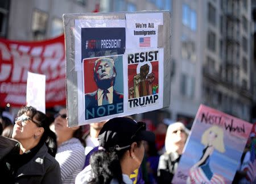
<svg viewBox="0 0 256 184"><path fill-rule="evenodd" d="M189 130L181 122L170 124L167 128L166 133L166 152L176 151L176 146L184 147L185 141L187 140ZM183 149L183 148L182 148Z"/></svg>

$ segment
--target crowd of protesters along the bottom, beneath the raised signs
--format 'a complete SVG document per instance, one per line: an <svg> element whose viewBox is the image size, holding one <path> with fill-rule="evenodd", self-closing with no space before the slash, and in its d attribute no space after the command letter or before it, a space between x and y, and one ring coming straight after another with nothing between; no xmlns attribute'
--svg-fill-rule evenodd
<svg viewBox="0 0 256 184"><path fill-rule="evenodd" d="M171 183L191 127L131 117L68 127L67 109L54 116L20 108L0 116L1 183ZM187 127L186 127L187 126ZM252 183L251 133L233 183Z"/></svg>

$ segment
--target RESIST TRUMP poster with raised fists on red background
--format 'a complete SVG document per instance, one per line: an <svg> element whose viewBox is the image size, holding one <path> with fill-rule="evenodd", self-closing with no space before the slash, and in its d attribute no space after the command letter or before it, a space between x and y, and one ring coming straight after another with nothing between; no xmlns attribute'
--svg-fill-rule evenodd
<svg viewBox="0 0 256 184"><path fill-rule="evenodd" d="M162 107L163 49L137 49L126 53L128 112Z"/></svg>

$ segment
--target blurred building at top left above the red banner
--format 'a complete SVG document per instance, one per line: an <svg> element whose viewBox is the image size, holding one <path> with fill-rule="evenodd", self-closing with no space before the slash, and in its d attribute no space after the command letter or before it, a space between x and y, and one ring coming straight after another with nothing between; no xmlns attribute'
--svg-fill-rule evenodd
<svg viewBox="0 0 256 184"><path fill-rule="evenodd" d="M11 40L44 40L63 34L63 14L92 12L93 0L2 0L0 36Z"/></svg>

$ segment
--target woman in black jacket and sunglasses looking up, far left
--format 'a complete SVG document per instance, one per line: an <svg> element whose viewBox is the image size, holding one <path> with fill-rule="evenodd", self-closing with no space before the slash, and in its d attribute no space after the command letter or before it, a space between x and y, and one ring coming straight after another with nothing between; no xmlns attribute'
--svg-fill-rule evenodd
<svg viewBox="0 0 256 184"><path fill-rule="evenodd" d="M59 163L51 156L56 136L46 114L31 106L20 108L12 137L18 142L0 137L1 182L61 183Z"/></svg>

